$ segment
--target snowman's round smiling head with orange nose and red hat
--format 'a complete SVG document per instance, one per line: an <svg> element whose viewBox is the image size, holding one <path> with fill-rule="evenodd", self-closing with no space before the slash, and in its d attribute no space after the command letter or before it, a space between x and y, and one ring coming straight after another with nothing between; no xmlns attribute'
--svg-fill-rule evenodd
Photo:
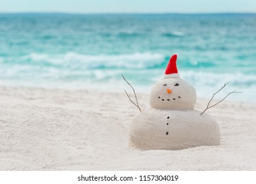
<svg viewBox="0 0 256 184"><path fill-rule="evenodd" d="M165 78L157 82L149 95L150 106L164 110L193 110L196 93L190 83L180 78L176 67L178 55L170 58Z"/></svg>

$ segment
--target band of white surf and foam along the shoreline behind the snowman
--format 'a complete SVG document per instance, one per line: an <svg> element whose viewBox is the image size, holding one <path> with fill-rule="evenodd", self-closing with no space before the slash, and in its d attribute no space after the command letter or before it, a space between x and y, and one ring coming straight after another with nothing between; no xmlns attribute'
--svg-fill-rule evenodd
<svg viewBox="0 0 256 184"><path fill-rule="evenodd" d="M31 53L18 58L0 58L0 83L36 87L64 87L73 89L126 89L124 74L137 91L148 93L151 85L163 78L165 56L159 53L127 55L45 55ZM8 62L10 63L8 64ZM242 72L216 73L215 69L201 72L199 68L179 68L181 78L189 81L199 97L211 97L225 82L230 81L222 95L242 91L233 99L254 101L256 76Z"/></svg>

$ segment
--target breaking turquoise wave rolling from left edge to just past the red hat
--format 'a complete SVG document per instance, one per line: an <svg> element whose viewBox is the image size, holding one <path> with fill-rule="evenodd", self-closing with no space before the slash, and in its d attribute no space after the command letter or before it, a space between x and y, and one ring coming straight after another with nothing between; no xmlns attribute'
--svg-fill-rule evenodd
<svg viewBox="0 0 256 184"><path fill-rule="evenodd" d="M0 64L19 66L40 66L68 69L152 69L165 68L170 56L160 53L132 53L126 55L82 55L68 52L64 55L31 53L22 57L0 57ZM210 61L180 60L181 68L209 68Z"/></svg>

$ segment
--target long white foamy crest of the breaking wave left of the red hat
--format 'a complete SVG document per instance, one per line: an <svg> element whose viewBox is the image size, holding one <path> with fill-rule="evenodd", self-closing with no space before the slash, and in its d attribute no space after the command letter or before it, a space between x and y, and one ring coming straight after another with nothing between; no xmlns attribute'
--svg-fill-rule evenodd
<svg viewBox="0 0 256 184"><path fill-rule="evenodd" d="M31 53L24 57L35 62L71 68L150 68L163 61L158 53L133 53L130 55L82 55L68 52L64 55Z"/></svg>

